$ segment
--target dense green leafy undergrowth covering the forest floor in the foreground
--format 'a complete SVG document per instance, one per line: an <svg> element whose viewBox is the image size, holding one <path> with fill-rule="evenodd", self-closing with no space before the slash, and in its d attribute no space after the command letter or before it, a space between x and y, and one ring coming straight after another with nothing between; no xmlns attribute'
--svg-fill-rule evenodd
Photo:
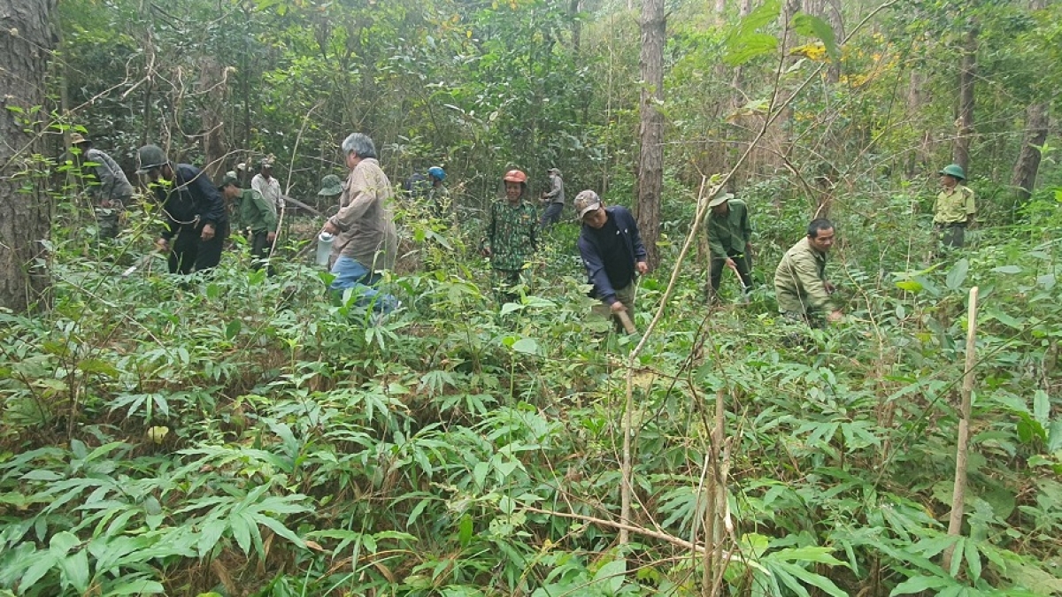
<svg viewBox="0 0 1062 597"><path fill-rule="evenodd" d="M796 209L755 214L760 279L799 238ZM572 224L499 308L466 249L473 222L407 222L421 267L388 280L404 308L378 325L327 300L309 266L270 278L233 252L209 277L160 262L122 277L149 244L135 223L107 248L61 231L54 309L0 313L0 587L701 594L682 541L701 539L722 390L724 594L1060 594L1058 204L932 265L925 217L903 218L838 218L830 275L849 318L803 345L785 342L763 285L709 309L703 268L683 266L634 363L634 517L656 534L626 547L609 522L634 339L585 317ZM641 280L640 329L668 274ZM974 285L971 488L949 539Z"/></svg>

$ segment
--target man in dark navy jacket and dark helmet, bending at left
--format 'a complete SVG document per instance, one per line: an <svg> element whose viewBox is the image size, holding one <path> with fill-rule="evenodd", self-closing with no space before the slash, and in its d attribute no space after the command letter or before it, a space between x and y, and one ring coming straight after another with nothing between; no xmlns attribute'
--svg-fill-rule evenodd
<svg viewBox="0 0 1062 597"><path fill-rule="evenodd" d="M228 212L206 172L188 164L171 164L158 146L137 151L136 172L148 177L162 206L166 229L155 245L169 253L170 273L217 267L228 237Z"/></svg>

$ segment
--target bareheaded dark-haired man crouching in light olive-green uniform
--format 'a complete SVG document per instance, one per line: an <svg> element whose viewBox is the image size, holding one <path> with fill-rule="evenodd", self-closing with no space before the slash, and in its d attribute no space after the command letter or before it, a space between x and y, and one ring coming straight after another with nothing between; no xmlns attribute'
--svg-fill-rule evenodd
<svg viewBox="0 0 1062 597"><path fill-rule="evenodd" d="M807 236L794 244L774 270L774 294L778 311L811 327L823 327L823 315L841 321L841 310L829 295L834 285L826 280L826 253L834 245L834 224L825 218L811 220Z"/></svg>

